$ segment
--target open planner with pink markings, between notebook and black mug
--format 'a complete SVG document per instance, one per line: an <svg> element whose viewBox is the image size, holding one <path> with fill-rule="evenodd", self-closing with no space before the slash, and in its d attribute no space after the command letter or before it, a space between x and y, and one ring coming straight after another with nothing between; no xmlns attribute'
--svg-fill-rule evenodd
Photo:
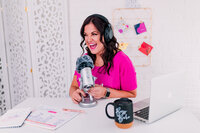
<svg viewBox="0 0 200 133"><path fill-rule="evenodd" d="M64 111L56 107L42 105L33 110L25 123L50 130L56 130L72 120L78 114L80 114L78 111Z"/></svg>

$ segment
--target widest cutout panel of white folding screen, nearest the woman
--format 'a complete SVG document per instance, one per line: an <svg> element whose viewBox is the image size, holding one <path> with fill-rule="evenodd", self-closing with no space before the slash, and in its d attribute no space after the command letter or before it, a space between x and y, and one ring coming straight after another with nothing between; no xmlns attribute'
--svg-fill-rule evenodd
<svg viewBox="0 0 200 133"><path fill-rule="evenodd" d="M65 0L28 2L35 94L65 97L69 85L69 44Z"/></svg>

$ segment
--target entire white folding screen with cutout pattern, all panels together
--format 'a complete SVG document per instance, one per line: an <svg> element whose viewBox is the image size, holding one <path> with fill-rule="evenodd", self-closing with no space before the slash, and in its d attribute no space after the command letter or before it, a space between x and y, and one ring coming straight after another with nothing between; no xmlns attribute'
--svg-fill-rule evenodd
<svg viewBox="0 0 200 133"><path fill-rule="evenodd" d="M7 101L15 106L32 96L66 97L70 81L67 1L1 0L0 5L0 29L4 29L0 58L7 60L7 65L0 64L6 72L0 70L0 114L10 107ZM2 73L7 75L6 89Z"/></svg>

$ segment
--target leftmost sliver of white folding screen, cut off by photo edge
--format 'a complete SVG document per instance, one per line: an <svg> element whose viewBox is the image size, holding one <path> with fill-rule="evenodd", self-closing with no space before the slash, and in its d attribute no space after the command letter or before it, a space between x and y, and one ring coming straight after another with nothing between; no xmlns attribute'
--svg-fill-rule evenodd
<svg viewBox="0 0 200 133"><path fill-rule="evenodd" d="M7 109L10 108L8 74L6 66L5 42L2 22L2 12L0 11L0 115L5 113Z"/></svg>

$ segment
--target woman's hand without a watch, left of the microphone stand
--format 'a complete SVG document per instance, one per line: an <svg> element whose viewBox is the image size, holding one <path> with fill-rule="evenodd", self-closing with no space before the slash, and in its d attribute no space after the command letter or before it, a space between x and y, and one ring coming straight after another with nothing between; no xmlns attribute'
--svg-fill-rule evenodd
<svg viewBox="0 0 200 133"><path fill-rule="evenodd" d="M71 95L72 101L75 104L78 104L82 100L81 95L84 96L84 97L86 96L86 94L83 90L76 89Z"/></svg>

